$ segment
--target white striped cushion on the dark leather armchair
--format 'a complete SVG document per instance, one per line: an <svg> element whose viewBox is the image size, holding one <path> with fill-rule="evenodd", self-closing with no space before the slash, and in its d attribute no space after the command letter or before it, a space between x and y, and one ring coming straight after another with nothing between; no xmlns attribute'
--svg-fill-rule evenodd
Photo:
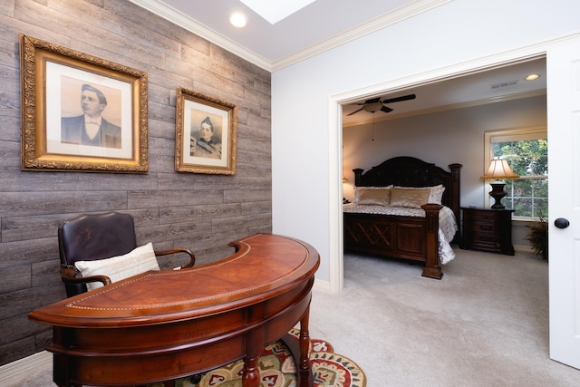
<svg viewBox="0 0 580 387"><path fill-rule="evenodd" d="M135 248L124 256L112 256L95 261L77 261L75 266L83 277L108 276L111 282L121 281L121 279L136 276L148 270L160 270L151 242ZM87 284L89 290L101 286L101 282Z"/></svg>

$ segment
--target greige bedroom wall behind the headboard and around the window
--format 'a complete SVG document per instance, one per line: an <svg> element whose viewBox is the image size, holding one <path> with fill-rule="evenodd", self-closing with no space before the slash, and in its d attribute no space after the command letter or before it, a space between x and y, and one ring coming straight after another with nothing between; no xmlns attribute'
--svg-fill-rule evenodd
<svg viewBox="0 0 580 387"><path fill-rule="evenodd" d="M371 169L396 156L413 156L461 169L461 205L483 207L484 133L547 125L546 96L441 111L343 129L343 196L353 198L354 168ZM372 140L373 139L373 140ZM486 190L487 189L487 190Z"/></svg>

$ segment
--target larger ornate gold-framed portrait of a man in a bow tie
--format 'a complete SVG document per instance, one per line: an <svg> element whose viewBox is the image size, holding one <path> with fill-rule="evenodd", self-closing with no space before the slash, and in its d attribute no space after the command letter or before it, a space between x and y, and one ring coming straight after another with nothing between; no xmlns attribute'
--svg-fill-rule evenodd
<svg viewBox="0 0 580 387"><path fill-rule="evenodd" d="M147 173L147 73L20 34L23 170Z"/></svg>

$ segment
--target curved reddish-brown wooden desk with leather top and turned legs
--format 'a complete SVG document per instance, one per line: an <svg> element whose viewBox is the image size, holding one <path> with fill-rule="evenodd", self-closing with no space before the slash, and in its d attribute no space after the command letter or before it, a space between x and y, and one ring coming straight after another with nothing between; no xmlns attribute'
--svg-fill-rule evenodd
<svg viewBox="0 0 580 387"><path fill-rule="evenodd" d="M53 325L46 349L54 382L160 382L245 358L243 385L258 386L260 353L300 322L300 384L312 383L308 314L318 253L266 234L229 246L236 254L221 261L150 271L28 314Z"/></svg>

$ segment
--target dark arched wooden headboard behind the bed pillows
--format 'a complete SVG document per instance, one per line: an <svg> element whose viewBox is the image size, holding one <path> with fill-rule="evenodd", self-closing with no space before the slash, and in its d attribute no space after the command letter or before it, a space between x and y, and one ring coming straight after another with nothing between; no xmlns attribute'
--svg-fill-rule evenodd
<svg viewBox="0 0 580 387"><path fill-rule="evenodd" d="M459 221L459 193L461 164L449 164L450 171L435 164L409 156L395 157L383 161L362 173L363 169L353 169L356 187L430 187L442 184L445 187L441 203L453 210Z"/></svg>

